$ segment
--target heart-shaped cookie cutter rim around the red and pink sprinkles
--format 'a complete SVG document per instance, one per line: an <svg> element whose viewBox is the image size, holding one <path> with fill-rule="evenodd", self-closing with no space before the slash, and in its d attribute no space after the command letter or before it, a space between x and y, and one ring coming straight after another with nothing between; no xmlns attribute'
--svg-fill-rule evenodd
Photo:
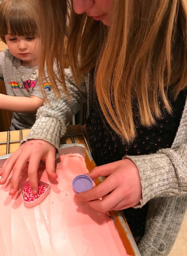
<svg viewBox="0 0 187 256"><path fill-rule="evenodd" d="M30 185L29 181L25 181L23 182L22 186L21 186L21 191L22 191L22 199L23 199L23 204L25 205L25 207L27 208L32 208L36 205L41 204L41 202L47 197L47 195L49 195L50 193L50 184L46 183L44 181L38 181L38 186L45 186L46 187L46 191L40 196L38 197L36 200L32 201L32 202L27 202L25 201L25 192L24 192L24 188L26 186Z"/></svg>

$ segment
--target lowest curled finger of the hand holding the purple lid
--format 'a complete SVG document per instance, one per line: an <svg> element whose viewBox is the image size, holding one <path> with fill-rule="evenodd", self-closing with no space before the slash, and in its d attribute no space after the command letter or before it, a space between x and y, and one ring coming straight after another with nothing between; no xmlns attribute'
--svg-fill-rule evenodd
<svg viewBox="0 0 187 256"><path fill-rule="evenodd" d="M116 205L116 202L120 202L124 199L120 189L115 189L111 194L105 196L103 200L93 200L89 202L89 205L98 211L106 212Z"/></svg>

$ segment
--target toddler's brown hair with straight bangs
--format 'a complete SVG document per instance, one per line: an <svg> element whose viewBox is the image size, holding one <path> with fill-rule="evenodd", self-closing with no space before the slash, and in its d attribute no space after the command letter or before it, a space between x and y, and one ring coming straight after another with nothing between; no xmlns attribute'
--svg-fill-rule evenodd
<svg viewBox="0 0 187 256"><path fill-rule="evenodd" d="M33 0L2 0L0 37L4 43L10 26L11 36L37 36L36 7Z"/></svg>

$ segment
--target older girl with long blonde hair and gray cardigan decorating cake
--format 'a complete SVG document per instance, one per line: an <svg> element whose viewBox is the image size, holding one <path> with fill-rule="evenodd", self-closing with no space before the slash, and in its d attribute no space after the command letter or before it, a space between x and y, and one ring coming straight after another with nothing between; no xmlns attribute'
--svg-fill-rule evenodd
<svg viewBox="0 0 187 256"><path fill-rule="evenodd" d="M25 143L2 167L0 184L12 171L9 193L14 195L29 162L36 193L41 160L48 175L57 178L60 137L87 97L89 144L98 165L89 175L108 177L76 200L100 211L124 210L141 255L167 255L187 206L186 1L39 4L46 54L40 67L44 70L47 61L54 79L49 56L56 58L68 96L56 89L59 97L48 97L50 104L39 109ZM64 70L65 33L71 71Z"/></svg>

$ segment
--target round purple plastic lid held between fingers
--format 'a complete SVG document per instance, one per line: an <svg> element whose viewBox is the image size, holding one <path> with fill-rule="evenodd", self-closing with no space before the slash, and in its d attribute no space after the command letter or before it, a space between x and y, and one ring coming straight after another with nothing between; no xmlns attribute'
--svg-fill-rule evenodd
<svg viewBox="0 0 187 256"><path fill-rule="evenodd" d="M78 194L93 187L93 180L85 174L77 175L72 181L73 191Z"/></svg>

